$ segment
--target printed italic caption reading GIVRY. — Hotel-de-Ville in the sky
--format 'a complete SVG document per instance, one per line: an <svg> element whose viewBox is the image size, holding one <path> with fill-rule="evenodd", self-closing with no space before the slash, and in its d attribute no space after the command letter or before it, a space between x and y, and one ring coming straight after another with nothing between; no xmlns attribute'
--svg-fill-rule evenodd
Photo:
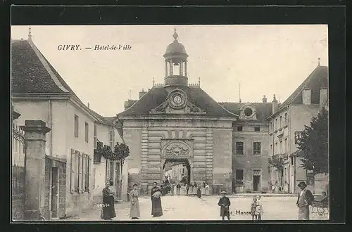
<svg viewBox="0 0 352 232"><path fill-rule="evenodd" d="M81 46L80 44L59 44L58 51L80 51L80 50L94 50L94 51L129 51L132 50L130 44L118 44L118 45L101 45L96 44L94 46Z"/></svg>

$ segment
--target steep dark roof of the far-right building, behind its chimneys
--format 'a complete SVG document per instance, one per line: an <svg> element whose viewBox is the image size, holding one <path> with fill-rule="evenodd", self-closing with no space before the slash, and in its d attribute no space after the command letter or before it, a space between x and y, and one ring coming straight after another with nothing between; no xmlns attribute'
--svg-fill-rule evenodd
<svg viewBox="0 0 352 232"><path fill-rule="evenodd" d="M302 82L300 86L284 101L279 105L279 109L287 107L290 104L301 104L302 103L302 92L304 89L310 89L310 101L312 104L319 104L320 89L322 87L327 88L328 86L328 67L320 66L315 68L312 73Z"/></svg>

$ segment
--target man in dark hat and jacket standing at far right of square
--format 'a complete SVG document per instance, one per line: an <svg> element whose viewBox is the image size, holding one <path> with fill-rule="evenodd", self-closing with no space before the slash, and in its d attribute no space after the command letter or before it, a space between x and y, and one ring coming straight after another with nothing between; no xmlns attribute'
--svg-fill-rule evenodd
<svg viewBox="0 0 352 232"><path fill-rule="evenodd" d="M313 194L306 188L304 181L298 183L301 191L298 193L296 205L298 207L298 220L309 220L309 205L312 205L314 200Z"/></svg>

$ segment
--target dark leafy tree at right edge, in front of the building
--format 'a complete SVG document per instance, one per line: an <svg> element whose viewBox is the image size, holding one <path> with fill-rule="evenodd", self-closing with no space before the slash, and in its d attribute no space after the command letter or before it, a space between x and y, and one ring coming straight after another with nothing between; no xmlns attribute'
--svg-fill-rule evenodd
<svg viewBox="0 0 352 232"><path fill-rule="evenodd" d="M328 168L328 112L325 108L313 117L310 127L305 129L298 139L298 149L301 150L301 167L313 171L313 174L327 174Z"/></svg>

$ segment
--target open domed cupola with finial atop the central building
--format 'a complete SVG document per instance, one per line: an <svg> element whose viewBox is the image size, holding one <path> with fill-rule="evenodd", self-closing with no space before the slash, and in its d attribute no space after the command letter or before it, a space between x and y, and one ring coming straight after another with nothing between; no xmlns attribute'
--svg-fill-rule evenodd
<svg viewBox="0 0 352 232"><path fill-rule="evenodd" d="M187 86L187 53L184 46L177 41L178 34L172 35L174 41L167 47L165 58L165 87L167 86ZM176 102L180 99L175 98Z"/></svg>

